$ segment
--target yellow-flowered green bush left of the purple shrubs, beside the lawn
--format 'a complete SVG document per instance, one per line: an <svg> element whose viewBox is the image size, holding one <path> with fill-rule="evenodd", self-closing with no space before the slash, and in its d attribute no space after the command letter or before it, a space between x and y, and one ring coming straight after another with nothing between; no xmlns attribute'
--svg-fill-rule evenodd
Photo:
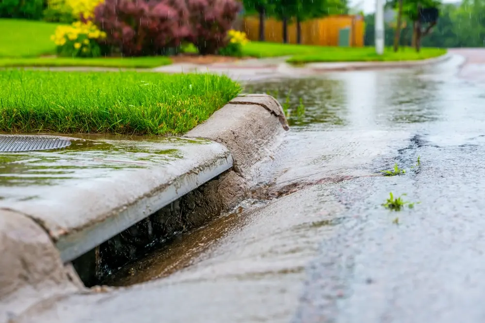
<svg viewBox="0 0 485 323"><path fill-rule="evenodd" d="M70 26L58 26L50 39L57 45L59 56L97 57L101 55L99 41L106 38L91 21L76 21Z"/></svg>

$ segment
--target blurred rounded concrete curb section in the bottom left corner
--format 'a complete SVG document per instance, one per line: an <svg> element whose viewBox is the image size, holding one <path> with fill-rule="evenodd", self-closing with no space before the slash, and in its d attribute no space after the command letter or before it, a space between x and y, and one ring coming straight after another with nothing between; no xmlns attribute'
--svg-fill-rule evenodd
<svg viewBox="0 0 485 323"><path fill-rule="evenodd" d="M38 224L0 210L0 322L15 322L17 315L44 299L82 290L76 273L63 265Z"/></svg>

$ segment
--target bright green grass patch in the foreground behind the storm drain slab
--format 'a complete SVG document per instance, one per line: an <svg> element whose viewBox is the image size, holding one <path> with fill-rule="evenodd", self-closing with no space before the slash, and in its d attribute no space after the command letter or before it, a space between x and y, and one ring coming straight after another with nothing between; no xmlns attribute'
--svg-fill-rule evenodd
<svg viewBox="0 0 485 323"><path fill-rule="evenodd" d="M181 134L241 91L226 76L0 71L0 131Z"/></svg>

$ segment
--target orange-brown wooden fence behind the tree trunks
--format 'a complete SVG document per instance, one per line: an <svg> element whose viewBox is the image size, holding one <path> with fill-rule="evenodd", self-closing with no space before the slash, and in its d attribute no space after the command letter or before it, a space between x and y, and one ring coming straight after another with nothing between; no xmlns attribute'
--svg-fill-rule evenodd
<svg viewBox="0 0 485 323"><path fill-rule="evenodd" d="M348 31L345 31L348 29ZM249 40L259 40L259 18L245 17L242 24ZM364 19L356 15L331 15L301 23L302 44L320 46L364 46ZM342 38L345 39L342 42ZM283 42L283 23L269 18L265 20L265 41ZM288 42L296 44L296 24L288 25ZM348 44L347 44L348 43Z"/></svg>

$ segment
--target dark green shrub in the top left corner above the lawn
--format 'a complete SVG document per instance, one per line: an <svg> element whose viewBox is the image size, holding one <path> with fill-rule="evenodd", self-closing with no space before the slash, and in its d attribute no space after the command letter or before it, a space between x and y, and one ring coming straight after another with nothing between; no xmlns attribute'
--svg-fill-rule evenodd
<svg viewBox="0 0 485 323"><path fill-rule="evenodd" d="M44 0L1 0L0 18L41 19Z"/></svg>

